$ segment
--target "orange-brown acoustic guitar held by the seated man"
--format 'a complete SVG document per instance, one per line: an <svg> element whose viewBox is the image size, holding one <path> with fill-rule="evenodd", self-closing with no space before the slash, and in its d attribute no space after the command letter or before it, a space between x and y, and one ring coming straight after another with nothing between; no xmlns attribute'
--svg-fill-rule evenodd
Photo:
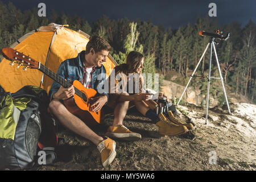
<svg viewBox="0 0 256 182"><path fill-rule="evenodd" d="M41 64L38 61L35 61L30 56L24 55L13 48L3 48L1 54L8 60L11 61L10 65L14 65L14 63L18 63L18 68L20 66L23 67L24 71L27 68L35 68L39 71L46 74L48 77L52 78L60 85L68 88L73 85L75 88L75 94L73 97L68 100L64 100L64 105L68 109L69 112L79 117L82 121L84 121L88 125L96 125L97 123L104 123L104 113L103 109L99 111L93 111L93 108L90 107L89 99L91 97L96 96L97 91L90 88L87 89L84 85L81 84L78 80L74 80L73 82L69 82L64 78L60 77L56 73L52 72L46 66Z"/></svg>

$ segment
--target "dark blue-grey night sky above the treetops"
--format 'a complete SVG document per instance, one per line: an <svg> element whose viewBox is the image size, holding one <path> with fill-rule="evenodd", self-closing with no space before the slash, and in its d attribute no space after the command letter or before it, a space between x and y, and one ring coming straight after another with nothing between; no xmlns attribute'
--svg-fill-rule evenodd
<svg viewBox="0 0 256 182"><path fill-rule="evenodd" d="M10 0L0 0L8 3ZM256 0L13 0L13 4L20 10L38 8L40 2L46 3L47 15L54 9L57 13L65 12L77 14L88 20L96 21L102 15L110 19L151 20L155 25L163 24L166 28L177 28L187 23L195 23L197 16L205 17L210 10L209 3L217 5L218 25L240 22L242 26L253 19L256 22Z"/></svg>

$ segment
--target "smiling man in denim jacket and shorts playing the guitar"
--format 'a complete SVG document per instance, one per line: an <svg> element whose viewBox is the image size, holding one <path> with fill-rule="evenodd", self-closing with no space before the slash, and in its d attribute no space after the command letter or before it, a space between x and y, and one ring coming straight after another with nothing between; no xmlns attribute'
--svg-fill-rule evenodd
<svg viewBox="0 0 256 182"><path fill-rule="evenodd" d="M86 45L86 51L82 51L73 59L67 59L60 64L57 74L66 80L79 80L84 84L85 88L93 88L97 91L99 84L105 81L106 70L102 63L106 61L111 46L101 36L93 36ZM103 73L103 74L101 74ZM98 80L98 75L101 79ZM63 100L67 100L75 94L75 88L70 86L64 88L56 81L53 81L49 96L51 102L49 109L52 114L68 129L76 134L89 139L96 144L101 153L101 162L104 167L113 162L115 152L115 141L108 137L100 137L92 131L80 118L70 113L63 105ZM108 93L101 93L98 97L90 100L93 111L102 109L108 102Z"/></svg>

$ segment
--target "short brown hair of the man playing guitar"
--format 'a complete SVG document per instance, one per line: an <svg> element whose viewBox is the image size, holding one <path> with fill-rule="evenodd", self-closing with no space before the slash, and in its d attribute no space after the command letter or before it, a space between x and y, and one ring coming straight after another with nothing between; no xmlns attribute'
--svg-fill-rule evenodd
<svg viewBox="0 0 256 182"><path fill-rule="evenodd" d="M106 51L111 50L110 44L104 38L102 38L102 36L96 36L96 35L92 36L92 38L87 43L86 51L85 51L86 55L90 52L90 48L93 48L95 53L102 50L106 50Z"/></svg>

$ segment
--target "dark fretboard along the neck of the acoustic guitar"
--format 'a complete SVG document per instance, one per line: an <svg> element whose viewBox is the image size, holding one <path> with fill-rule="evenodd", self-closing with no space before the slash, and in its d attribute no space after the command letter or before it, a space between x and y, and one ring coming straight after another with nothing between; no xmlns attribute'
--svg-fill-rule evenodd
<svg viewBox="0 0 256 182"><path fill-rule="evenodd" d="M65 88L68 88L69 86L72 85L69 81L65 80L64 78L60 77L56 73L52 72L50 69L45 67L43 64L40 64L39 70L42 71L47 76L49 76L50 78L52 78L53 80L55 80L56 82L58 82L60 85L64 86ZM81 97L83 100L87 101L85 94L82 93L79 89L75 88L75 94L77 96Z"/></svg>

